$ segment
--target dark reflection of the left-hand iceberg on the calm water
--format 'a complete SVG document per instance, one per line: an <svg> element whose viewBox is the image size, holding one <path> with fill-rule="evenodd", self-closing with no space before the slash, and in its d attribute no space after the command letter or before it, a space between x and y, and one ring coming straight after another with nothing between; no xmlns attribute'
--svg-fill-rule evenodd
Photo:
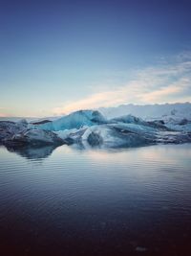
<svg viewBox="0 0 191 256"><path fill-rule="evenodd" d="M45 147L6 147L8 151L15 152L22 157L28 159L43 159L49 157L52 152L57 148L56 146L45 146Z"/></svg>

